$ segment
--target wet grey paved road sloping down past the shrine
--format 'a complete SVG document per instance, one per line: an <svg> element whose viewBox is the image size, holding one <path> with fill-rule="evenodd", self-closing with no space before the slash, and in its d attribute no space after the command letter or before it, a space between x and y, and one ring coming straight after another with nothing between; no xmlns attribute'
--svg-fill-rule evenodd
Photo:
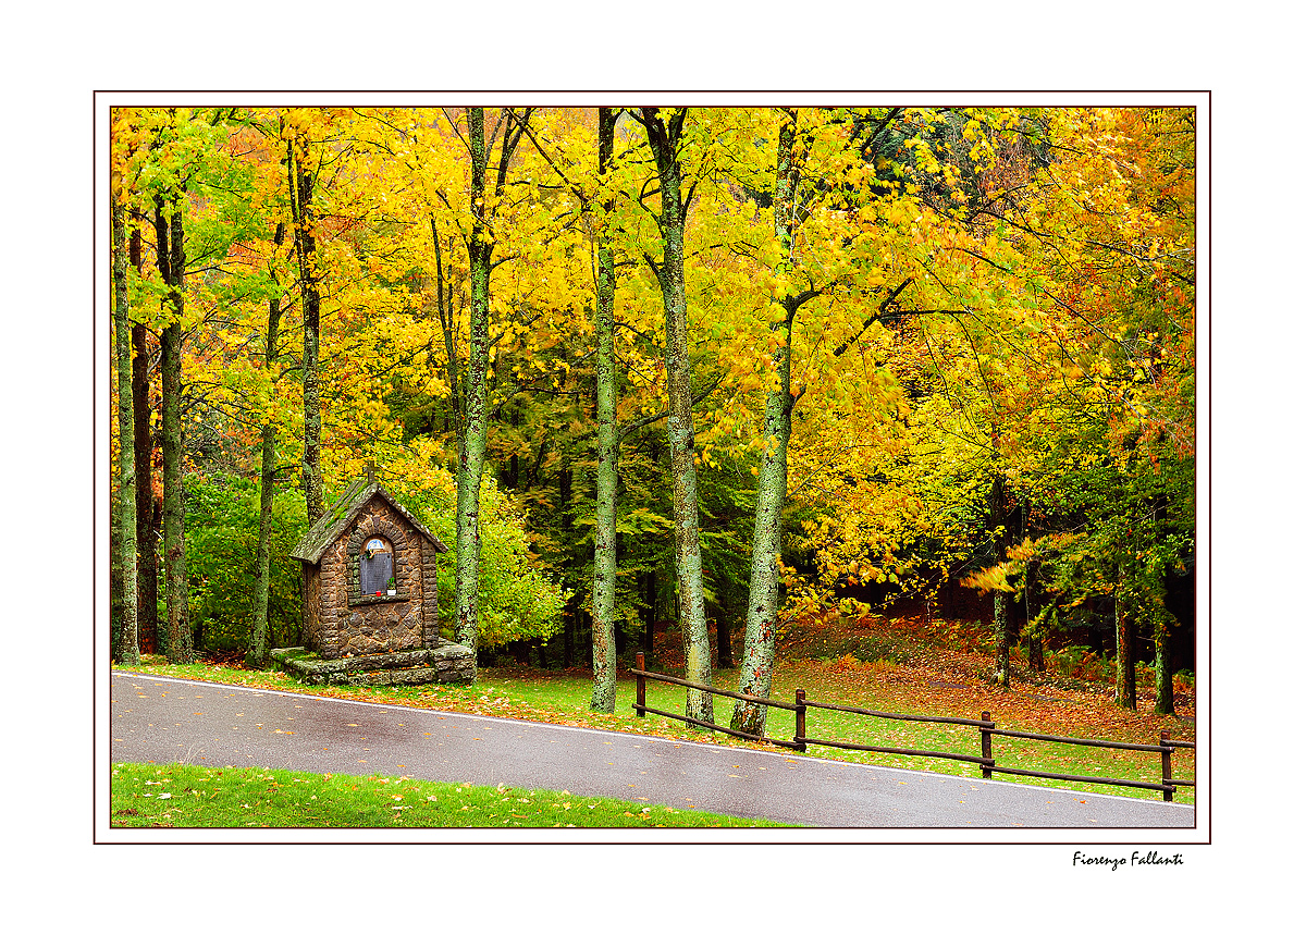
<svg viewBox="0 0 1306 935"><path fill-rule="evenodd" d="M112 759L567 789L820 828L1192 828L1191 806L115 673Z"/></svg>

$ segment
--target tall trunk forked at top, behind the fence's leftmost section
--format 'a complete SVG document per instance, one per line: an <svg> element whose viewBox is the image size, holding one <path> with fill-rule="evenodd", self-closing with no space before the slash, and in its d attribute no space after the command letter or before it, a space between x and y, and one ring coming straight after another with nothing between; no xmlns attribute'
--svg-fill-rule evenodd
<svg viewBox="0 0 1306 935"><path fill-rule="evenodd" d="M693 462L693 388L690 366L688 313L684 299L684 218L678 145L686 108L666 123L658 108L644 108L644 127L657 159L661 187L662 262L657 266L666 312L667 440L671 449L671 509L675 520L675 567L684 678L712 684L712 649L703 598L703 552L699 543L699 479ZM690 688L686 717L713 723L712 695Z"/></svg>

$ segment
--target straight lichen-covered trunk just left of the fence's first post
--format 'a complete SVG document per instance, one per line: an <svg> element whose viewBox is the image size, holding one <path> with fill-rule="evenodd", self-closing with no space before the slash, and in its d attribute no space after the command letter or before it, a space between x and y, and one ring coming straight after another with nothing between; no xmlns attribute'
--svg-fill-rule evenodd
<svg viewBox="0 0 1306 935"><path fill-rule="evenodd" d="M598 172L607 172L613 161L616 116L611 107L598 108ZM616 709L616 462L620 456L616 434L616 351L614 303L616 276L609 247L606 223L611 201L602 206L597 223L598 283L594 303L596 380L598 422L598 466L594 516L594 691L590 710L611 714Z"/></svg>

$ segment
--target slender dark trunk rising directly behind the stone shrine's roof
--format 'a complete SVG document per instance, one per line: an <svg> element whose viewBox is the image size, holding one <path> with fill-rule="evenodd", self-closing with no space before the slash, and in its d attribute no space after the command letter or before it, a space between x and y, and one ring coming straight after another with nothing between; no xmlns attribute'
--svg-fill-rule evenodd
<svg viewBox="0 0 1306 935"><path fill-rule="evenodd" d="M323 413L319 388L319 343L321 296L317 282L317 238L313 231L313 176L304 167L308 142L295 137L286 144L286 171L290 184L290 210L295 225L295 256L299 260L299 289L304 312L304 456L300 470L308 525L325 512L323 496L321 436Z"/></svg>

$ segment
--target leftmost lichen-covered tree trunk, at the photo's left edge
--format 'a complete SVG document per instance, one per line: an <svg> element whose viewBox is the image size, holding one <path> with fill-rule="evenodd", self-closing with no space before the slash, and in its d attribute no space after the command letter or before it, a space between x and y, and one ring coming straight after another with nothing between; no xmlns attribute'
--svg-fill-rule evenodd
<svg viewBox="0 0 1306 935"><path fill-rule="evenodd" d="M116 185L115 185L116 188ZM118 522L120 534L120 563L123 576L121 629L118 658L128 666L141 661L137 631L136 582L136 445L132 414L132 332L128 321L127 298L127 209L116 191L111 195L114 206L114 351L118 360Z"/></svg>

